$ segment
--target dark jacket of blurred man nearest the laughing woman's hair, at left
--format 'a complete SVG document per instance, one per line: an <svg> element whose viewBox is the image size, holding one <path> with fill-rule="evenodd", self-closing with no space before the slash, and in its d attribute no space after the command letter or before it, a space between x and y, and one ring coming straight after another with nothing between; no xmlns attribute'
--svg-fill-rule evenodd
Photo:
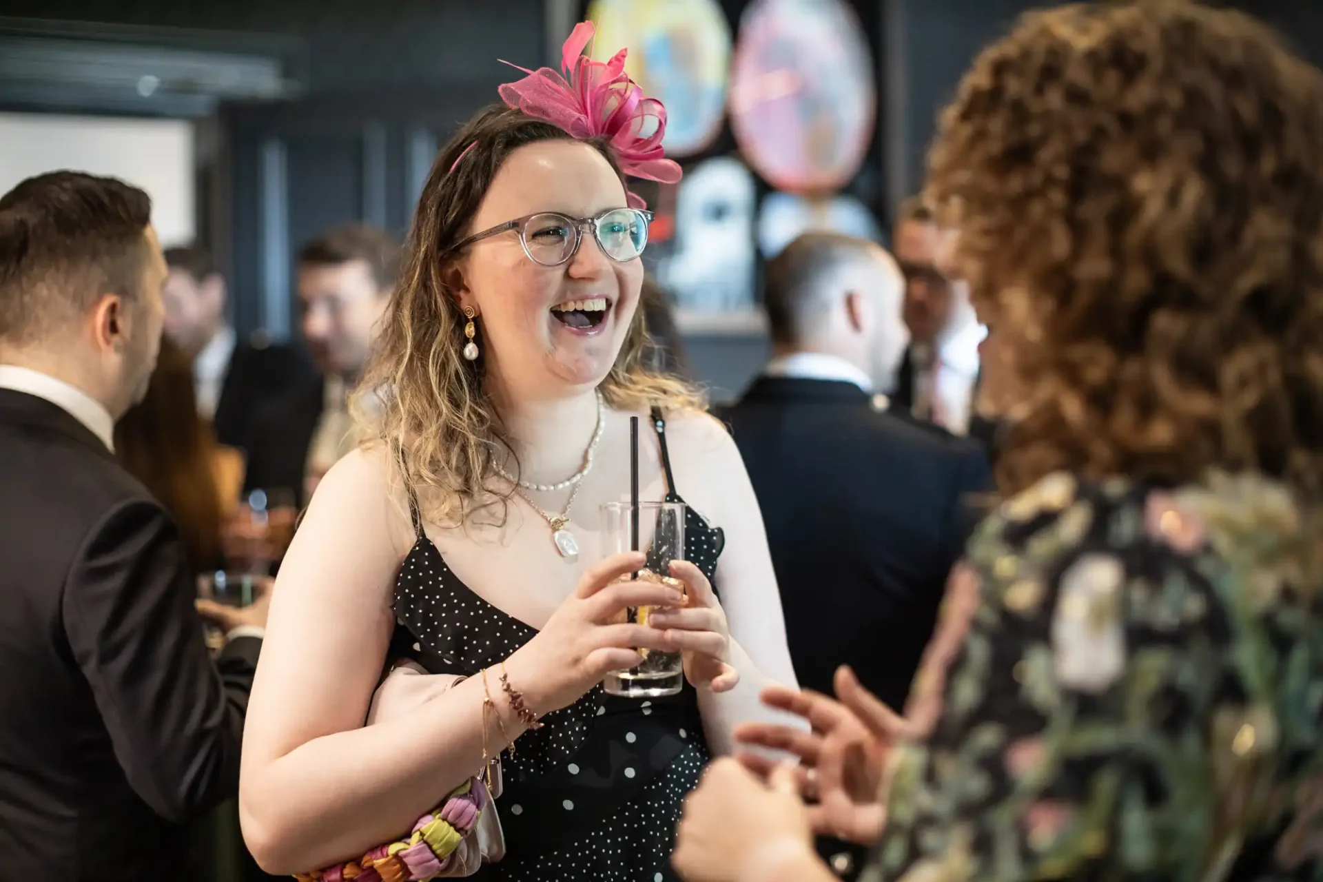
<svg viewBox="0 0 1323 882"><path fill-rule="evenodd" d="M304 476L308 448L324 407L325 382L321 377L304 381L267 403L249 434L245 495L254 489L287 489L294 492L300 510L307 505Z"/></svg>

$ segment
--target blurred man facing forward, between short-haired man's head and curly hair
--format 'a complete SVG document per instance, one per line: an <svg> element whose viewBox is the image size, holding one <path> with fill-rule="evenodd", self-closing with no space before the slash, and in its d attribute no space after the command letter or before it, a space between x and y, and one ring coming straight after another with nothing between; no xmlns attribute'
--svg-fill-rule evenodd
<svg viewBox="0 0 1323 882"><path fill-rule="evenodd" d="M905 276L910 344L890 389L890 405L957 435L970 428L979 378L979 325L968 286L941 266L946 233L922 197L897 213L892 246Z"/></svg>

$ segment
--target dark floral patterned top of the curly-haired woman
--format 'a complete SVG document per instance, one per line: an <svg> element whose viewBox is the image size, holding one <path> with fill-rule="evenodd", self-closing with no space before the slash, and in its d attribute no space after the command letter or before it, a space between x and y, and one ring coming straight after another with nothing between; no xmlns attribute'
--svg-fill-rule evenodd
<svg viewBox="0 0 1323 882"><path fill-rule="evenodd" d="M1323 878L1320 545L1246 476L1005 502L953 578L916 682L941 713L892 755L863 879Z"/></svg>

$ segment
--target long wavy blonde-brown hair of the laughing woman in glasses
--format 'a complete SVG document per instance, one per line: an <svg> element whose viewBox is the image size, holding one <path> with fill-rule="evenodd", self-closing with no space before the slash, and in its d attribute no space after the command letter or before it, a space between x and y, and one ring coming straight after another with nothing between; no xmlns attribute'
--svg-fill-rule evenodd
<svg viewBox="0 0 1323 882"><path fill-rule="evenodd" d="M490 501L504 510L512 489L496 492L490 479L504 450L515 455L500 414L483 389L483 357L466 361L466 342L446 270L456 254L497 169L511 152L544 140L566 140L561 128L505 106L470 120L437 156L418 200L405 242L400 283L355 397L355 413L369 443L392 452L393 476L419 491L423 517L462 526ZM602 140L583 140L601 152L624 182ZM456 164L458 163L458 164ZM451 171L454 169L454 171ZM685 381L656 373L654 344L643 309L624 336L601 390L620 410L703 409L701 393ZM517 458L516 458L517 461Z"/></svg>

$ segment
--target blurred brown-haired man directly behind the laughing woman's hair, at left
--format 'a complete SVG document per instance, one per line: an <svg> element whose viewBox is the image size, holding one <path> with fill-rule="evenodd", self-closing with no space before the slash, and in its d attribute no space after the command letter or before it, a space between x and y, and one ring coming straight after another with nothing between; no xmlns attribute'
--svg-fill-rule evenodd
<svg viewBox="0 0 1323 882"><path fill-rule="evenodd" d="M303 340L319 376L270 402L249 435L245 492L287 495L302 509L359 438L347 407L368 364L400 271L385 230L344 226L299 250Z"/></svg>

